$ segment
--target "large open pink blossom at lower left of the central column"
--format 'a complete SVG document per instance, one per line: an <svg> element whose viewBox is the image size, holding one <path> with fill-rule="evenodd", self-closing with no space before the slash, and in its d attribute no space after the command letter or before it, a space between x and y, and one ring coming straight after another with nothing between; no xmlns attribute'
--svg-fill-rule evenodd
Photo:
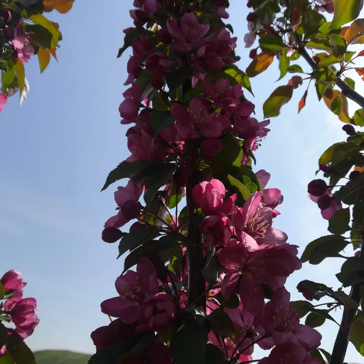
<svg viewBox="0 0 364 364"><path fill-rule="evenodd" d="M137 272L128 270L115 281L120 296L101 303L101 311L112 317L120 317L126 324L143 322L143 301L148 295L158 293L157 272L147 258L141 258Z"/></svg>

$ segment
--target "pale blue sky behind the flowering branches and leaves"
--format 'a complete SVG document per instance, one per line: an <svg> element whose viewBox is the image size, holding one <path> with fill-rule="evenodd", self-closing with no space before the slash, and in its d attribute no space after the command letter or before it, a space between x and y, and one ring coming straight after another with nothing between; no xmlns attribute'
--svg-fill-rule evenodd
<svg viewBox="0 0 364 364"><path fill-rule="evenodd" d="M242 57L238 66L245 69L249 50L242 38L248 11L245 1L230 3L229 23ZM59 63L52 59L39 75L34 57L26 65L27 99L19 108L18 95L9 98L0 114L1 272L22 272L28 282L25 297L37 299L40 323L27 339L33 350L92 353L90 332L108 324L100 302L115 296L123 260L116 261L116 244L100 238L104 222L114 213L117 185L99 191L108 172L129 155L127 126L119 123L118 107L130 53L119 59L116 54L123 44L122 30L132 25L130 8L132 0L77 0L66 15L51 13L63 33ZM302 67L309 70L304 63ZM256 98L246 92L260 121L264 100L288 82L286 76L274 83L278 75L275 60L252 79ZM363 91L362 81L355 80ZM269 171L269 187L282 190L285 200L275 226L300 246L300 254L310 241L328 234L317 205L307 199L307 183L314 179L319 155L345 139L343 123L318 102L313 84L307 106L297 115L305 87L294 90L293 100L271 120L272 131L257 152L255 168ZM350 106L353 113L356 107ZM346 254L352 254L350 247ZM286 285L293 299L302 299L295 289L302 279L339 287L334 273L342 263L333 258L319 266L304 264ZM328 323L319 330L321 347L330 352L337 325ZM254 359L262 356L257 351ZM349 344L346 360L359 363L363 357Z"/></svg>

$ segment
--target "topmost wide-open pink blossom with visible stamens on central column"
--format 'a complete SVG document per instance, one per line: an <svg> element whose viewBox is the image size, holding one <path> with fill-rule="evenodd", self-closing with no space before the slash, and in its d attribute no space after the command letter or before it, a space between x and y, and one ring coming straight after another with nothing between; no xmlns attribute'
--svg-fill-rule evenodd
<svg viewBox="0 0 364 364"><path fill-rule="evenodd" d="M204 37L210 25L199 24L194 13L183 14L177 23L168 19L167 28L174 37L172 48L179 52L189 52L193 47L200 47L211 39L211 36Z"/></svg>

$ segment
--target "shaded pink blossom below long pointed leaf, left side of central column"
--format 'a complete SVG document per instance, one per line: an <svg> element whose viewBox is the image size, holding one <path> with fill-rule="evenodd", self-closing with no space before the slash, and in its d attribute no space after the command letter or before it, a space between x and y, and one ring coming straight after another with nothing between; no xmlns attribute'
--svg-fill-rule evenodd
<svg viewBox="0 0 364 364"><path fill-rule="evenodd" d="M114 197L119 207L119 212L117 215L110 217L105 222L104 227L119 228L131 219L137 218L142 207L139 202L142 192L143 184L139 183L137 185L131 180L127 183L126 187L118 187L118 190L114 193Z"/></svg>

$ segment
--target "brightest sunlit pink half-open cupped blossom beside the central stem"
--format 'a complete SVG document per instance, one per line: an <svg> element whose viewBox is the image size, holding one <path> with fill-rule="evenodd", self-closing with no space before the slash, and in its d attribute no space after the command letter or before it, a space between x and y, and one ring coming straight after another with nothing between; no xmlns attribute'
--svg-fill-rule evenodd
<svg viewBox="0 0 364 364"><path fill-rule="evenodd" d="M218 179L204 181L193 187L192 195L196 206L201 207L205 215L214 215L222 212L230 215L231 209L236 201L237 194L233 194L225 201L225 186Z"/></svg>

